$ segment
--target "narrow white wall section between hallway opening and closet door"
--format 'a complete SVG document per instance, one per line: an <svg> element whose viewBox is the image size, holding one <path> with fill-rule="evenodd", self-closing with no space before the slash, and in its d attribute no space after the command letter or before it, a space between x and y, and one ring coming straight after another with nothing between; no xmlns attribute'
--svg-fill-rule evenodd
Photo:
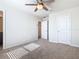
<svg viewBox="0 0 79 59"><path fill-rule="evenodd" d="M49 41L57 42L56 24L55 24L55 13L49 15Z"/></svg>

